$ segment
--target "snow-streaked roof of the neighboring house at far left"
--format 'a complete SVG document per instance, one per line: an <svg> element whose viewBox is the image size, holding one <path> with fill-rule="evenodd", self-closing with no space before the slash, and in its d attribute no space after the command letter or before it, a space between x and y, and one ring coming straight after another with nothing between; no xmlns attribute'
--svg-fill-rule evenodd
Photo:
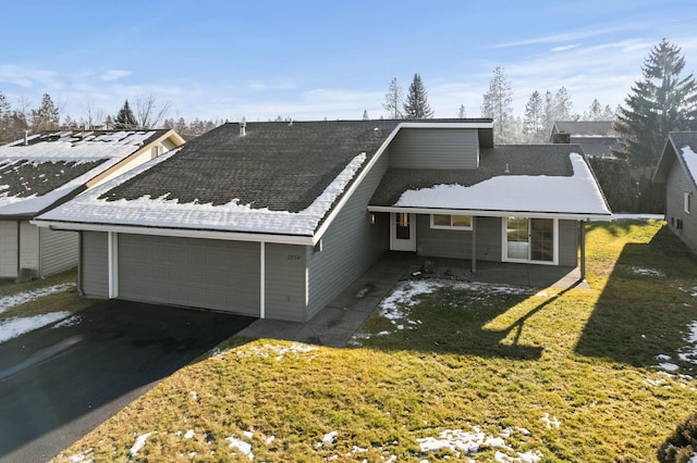
<svg viewBox="0 0 697 463"><path fill-rule="evenodd" d="M2 146L0 216L35 216L172 134L175 136L171 130L45 132Z"/></svg>

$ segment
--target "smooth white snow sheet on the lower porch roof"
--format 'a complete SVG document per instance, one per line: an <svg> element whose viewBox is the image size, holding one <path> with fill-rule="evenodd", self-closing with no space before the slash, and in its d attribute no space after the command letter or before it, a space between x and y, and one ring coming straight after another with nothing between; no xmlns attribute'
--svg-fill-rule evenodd
<svg viewBox="0 0 697 463"><path fill-rule="evenodd" d="M435 185L408 190L394 204L402 208L521 211L610 215L588 164L571 153L574 175L501 175L473 186Z"/></svg>

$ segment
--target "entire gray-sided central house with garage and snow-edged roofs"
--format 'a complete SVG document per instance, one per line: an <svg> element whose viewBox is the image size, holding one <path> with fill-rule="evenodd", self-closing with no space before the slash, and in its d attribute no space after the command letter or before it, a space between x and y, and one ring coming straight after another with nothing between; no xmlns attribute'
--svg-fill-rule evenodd
<svg viewBox="0 0 697 463"><path fill-rule="evenodd" d="M389 250L577 265L610 211L580 147L491 120L228 123L35 223L87 297L307 321Z"/></svg>

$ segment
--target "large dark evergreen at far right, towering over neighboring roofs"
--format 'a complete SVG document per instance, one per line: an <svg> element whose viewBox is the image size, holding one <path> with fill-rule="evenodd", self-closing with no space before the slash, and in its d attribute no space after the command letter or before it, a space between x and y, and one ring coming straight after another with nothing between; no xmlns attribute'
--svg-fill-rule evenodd
<svg viewBox="0 0 697 463"><path fill-rule="evenodd" d="M637 166L658 162L669 132L696 128L697 84L692 74L681 76L684 67L681 49L661 40L644 61L644 79L635 82L617 110L614 128Z"/></svg>

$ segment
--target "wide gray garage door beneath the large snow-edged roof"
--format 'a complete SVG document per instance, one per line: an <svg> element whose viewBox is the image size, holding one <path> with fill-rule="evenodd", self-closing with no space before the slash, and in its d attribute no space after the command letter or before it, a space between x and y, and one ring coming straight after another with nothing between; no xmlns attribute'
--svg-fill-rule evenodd
<svg viewBox="0 0 697 463"><path fill-rule="evenodd" d="M259 316L259 243L119 235L119 297Z"/></svg>

